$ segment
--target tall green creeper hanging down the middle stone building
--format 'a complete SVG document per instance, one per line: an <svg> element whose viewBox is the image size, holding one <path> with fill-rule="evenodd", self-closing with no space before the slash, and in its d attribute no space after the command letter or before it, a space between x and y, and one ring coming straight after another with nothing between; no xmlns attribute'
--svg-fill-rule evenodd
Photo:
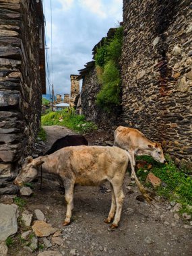
<svg viewBox="0 0 192 256"><path fill-rule="evenodd" d="M104 40L95 55L98 82L102 88L96 96L96 104L110 113L114 106L121 104L121 75L119 60L123 42L123 27L120 26L115 36Z"/></svg>

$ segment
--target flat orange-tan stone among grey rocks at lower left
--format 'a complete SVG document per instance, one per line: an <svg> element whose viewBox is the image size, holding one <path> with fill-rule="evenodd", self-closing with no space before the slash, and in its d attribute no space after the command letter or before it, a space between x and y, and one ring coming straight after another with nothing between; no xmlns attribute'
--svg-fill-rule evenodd
<svg viewBox="0 0 192 256"><path fill-rule="evenodd" d="M57 228L53 228L51 224L48 224L42 220L36 220L32 226L32 230L38 237L50 236L57 231Z"/></svg>

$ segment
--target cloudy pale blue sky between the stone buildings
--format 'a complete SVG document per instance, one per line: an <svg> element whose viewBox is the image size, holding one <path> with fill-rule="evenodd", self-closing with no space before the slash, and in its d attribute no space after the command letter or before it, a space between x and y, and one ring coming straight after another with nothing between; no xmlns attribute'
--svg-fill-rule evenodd
<svg viewBox="0 0 192 256"><path fill-rule="evenodd" d="M55 94L70 94L70 75L78 74L109 28L122 22L123 0L43 0L50 81ZM52 6L52 62L51 62ZM53 63L53 73L52 65ZM53 79L52 79L53 77ZM46 81L46 93L49 94Z"/></svg>

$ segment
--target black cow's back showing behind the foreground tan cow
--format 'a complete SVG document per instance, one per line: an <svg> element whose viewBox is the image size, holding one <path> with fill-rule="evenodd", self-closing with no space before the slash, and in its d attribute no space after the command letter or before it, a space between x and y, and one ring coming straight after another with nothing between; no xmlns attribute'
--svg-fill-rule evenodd
<svg viewBox="0 0 192 256"><path fill-rule="evenodd" d="M53 154L55 151L61 150L61 148L81 145L88 146L88 141L83 135L66 135L65 137L57 139L44 156Z"/></svg>

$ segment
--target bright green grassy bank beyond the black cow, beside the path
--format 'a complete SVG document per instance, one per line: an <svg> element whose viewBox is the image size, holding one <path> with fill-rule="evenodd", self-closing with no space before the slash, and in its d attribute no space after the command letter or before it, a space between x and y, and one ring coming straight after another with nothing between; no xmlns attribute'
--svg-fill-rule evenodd
<svg viewBox="0 0 192 256"><path fill-rule="evenodd" d="M41 123L42 125L63 125L80 133L97 129L94 123L86 121L84 115L76 115L74 110L68 110L67 108L42 116Z"/></svg>

